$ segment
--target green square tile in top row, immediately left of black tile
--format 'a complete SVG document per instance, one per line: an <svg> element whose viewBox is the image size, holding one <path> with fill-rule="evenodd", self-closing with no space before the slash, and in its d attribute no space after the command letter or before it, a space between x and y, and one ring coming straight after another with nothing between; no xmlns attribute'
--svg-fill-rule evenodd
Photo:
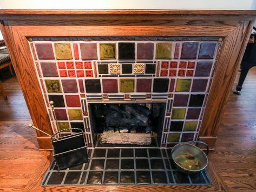
<svg viewBox="0 0 256 192"><path fill-rule="evenodd" d="M101 43L100 44L100 58L101 59L115 59L116 58L116 44L115 43Z"/></svg>

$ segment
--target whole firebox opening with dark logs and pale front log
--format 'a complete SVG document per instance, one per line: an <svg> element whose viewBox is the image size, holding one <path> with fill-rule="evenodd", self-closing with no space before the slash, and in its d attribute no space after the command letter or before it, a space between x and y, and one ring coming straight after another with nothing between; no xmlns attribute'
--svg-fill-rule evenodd
<svg viewBox="0 0 256 192"><path fill-rule="evenodd" d="M165 103L90 103L94 147L160 146Z"/></svg>

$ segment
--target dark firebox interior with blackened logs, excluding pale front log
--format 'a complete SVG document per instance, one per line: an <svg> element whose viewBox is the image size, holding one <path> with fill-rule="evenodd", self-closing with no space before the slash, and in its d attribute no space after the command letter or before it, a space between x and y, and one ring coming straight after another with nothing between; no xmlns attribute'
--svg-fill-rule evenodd
<svg viewBox="0 0 256 192"><path fill-rule="evenodd" d="M94 143L98 147L127 146L100 142L103 131L118 131L119 133L151 134L150 146L160 146L165 107L165 103L90 103L90 122Z"/></svg>

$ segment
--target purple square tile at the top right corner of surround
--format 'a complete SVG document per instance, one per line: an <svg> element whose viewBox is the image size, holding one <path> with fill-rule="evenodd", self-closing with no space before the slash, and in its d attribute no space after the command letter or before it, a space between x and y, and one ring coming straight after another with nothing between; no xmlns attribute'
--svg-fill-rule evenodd
<svg viewBox="0 0 256 192"><path fill-rule="evenodd" d="M201 43L198 58L199 59L212 59L214 56L216 43Z"/></svg>

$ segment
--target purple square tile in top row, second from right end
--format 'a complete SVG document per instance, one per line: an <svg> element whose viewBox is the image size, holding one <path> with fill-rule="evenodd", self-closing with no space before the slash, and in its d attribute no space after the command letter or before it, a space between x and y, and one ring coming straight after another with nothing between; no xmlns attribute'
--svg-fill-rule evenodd
<svg viewBox="0 0 256 192"><path fill-rule="evenodd" d="M198 52L197 42L185 42L182 44L181 59L195 59Z"/></svg>

